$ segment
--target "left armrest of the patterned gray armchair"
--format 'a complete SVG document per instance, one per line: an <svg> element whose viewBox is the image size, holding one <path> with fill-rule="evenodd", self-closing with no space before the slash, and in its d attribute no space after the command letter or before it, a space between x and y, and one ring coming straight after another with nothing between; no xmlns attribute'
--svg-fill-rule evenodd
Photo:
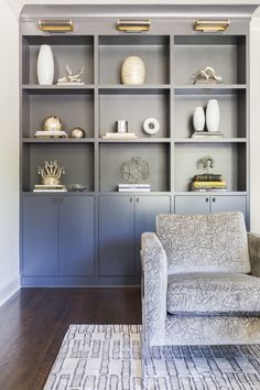
<svg viewBox="0 0 260 390"><path fill-rule="evenodd" d="M154 232L141 236L142 326L149 346L165 344L167 261Z"/></svg>

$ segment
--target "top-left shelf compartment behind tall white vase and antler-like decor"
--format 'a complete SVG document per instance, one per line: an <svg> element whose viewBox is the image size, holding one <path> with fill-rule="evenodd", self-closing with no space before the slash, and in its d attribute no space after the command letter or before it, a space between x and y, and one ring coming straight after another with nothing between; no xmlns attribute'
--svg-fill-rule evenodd
<svg viewBox="0 0 260 390"><path fill-rule="evenodd" d="M37 84L36 63L40 46L48 44L54 56L54 84L67 75L65 66L75 74L83 66L82 80L94 83L94 37L93 35L23 36L22 39L22 83Z"/></svg>

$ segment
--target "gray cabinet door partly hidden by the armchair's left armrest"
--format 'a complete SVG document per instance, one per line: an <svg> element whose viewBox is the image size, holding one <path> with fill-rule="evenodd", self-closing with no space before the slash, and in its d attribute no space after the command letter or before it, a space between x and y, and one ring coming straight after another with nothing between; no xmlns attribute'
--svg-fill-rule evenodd
<svg viewBox="0 0 260 390"><path fill-rule="evenodd" d="M144 231L155 231L155 220L159 214L171 212L171 197L158 196L136 196L136 273L141 274L140 249L141 234Z"/></svg>

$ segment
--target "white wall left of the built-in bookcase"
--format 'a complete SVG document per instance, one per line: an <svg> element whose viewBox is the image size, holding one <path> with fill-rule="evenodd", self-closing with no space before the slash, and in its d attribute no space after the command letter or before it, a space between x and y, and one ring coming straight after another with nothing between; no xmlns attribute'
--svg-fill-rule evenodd
<svg viewBox="0 0 260 390"><path fill-rule="evenodd" d="M0 305L19 288L18 21L0 0Z"/></svg>

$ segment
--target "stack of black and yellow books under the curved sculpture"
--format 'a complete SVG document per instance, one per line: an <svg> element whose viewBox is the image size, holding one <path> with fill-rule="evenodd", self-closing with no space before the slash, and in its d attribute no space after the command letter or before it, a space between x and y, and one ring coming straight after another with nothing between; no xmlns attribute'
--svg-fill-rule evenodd
<svg viewBox="0 0 260 390"><path fill-rule="evenodd" d="M194 175L191 184L192 191L227 191L227 183L223 180L220 174L204 173Z"/></svg>

